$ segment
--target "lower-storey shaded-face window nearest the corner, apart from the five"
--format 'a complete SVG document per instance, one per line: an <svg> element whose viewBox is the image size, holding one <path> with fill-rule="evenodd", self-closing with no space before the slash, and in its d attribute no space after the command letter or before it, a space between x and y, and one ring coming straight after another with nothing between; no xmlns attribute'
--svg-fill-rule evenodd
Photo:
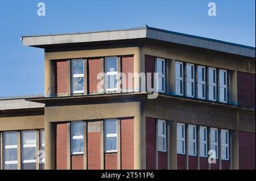
<svg viewBox="0 0 256 181"><path fill-rule="evenodd" d="M166 151L166 121L158 120L158 151Z"/></svg>

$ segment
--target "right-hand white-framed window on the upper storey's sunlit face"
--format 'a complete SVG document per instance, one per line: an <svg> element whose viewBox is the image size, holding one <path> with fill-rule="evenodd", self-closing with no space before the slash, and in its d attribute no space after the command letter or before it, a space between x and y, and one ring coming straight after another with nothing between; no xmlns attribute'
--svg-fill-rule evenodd
<svg viewBox="0 0 256 181"><path fill-rule="evenodd" d="M106 57L105 72L106 91L117 91L117 57Z"/></svg>

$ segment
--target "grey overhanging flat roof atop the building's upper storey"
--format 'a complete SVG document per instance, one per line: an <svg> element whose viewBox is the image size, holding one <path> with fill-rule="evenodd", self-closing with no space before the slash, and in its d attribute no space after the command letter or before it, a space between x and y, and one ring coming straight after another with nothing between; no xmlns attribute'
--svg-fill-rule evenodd
<svg viewBox="0 0 256 181"><path fill-rule="evenodd" d="M221 40L209 39L179 33L174 31L162 30L153 27L138 27L123 30L106 30L95 32L76 32L48 35L27 35L22 36L23 45L46 48L47 45L90 43L97 41L130 40L130 39L153 39L166 41L168 43L188 45L192 47L216 50L224 53L232 53L240 56L255 58L255 47L230 43Z"/></svg>

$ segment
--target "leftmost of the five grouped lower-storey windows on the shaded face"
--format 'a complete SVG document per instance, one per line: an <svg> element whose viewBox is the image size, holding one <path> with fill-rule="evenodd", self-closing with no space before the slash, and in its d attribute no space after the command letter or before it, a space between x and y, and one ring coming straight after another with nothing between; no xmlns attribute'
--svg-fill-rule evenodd
<svg viewBox="0 0 256 181"><path fill-rule="evenodd" d="M185 124L177 123L177 153L185 154Z"/></svg>

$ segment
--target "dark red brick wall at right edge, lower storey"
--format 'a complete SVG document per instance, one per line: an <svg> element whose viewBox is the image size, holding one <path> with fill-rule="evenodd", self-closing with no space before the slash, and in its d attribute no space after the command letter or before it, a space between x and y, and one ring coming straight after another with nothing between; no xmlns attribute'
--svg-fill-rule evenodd
<svg viewBox="0 0 256 181"><path fill-rule="evenodd" d="M239 132L239 167L255 170L255 133Z"/></svg>

